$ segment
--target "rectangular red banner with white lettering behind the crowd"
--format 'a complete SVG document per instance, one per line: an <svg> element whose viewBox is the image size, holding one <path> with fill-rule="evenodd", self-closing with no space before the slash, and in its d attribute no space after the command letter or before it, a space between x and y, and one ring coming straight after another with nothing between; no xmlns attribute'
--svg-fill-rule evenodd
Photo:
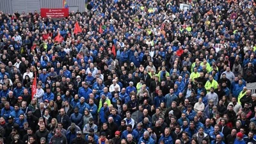
<svg viewBox="0 0 256 144"><path fill-rule="evenodd" d="M41 8L41 17L68 17L68 8Z"/></svg>

